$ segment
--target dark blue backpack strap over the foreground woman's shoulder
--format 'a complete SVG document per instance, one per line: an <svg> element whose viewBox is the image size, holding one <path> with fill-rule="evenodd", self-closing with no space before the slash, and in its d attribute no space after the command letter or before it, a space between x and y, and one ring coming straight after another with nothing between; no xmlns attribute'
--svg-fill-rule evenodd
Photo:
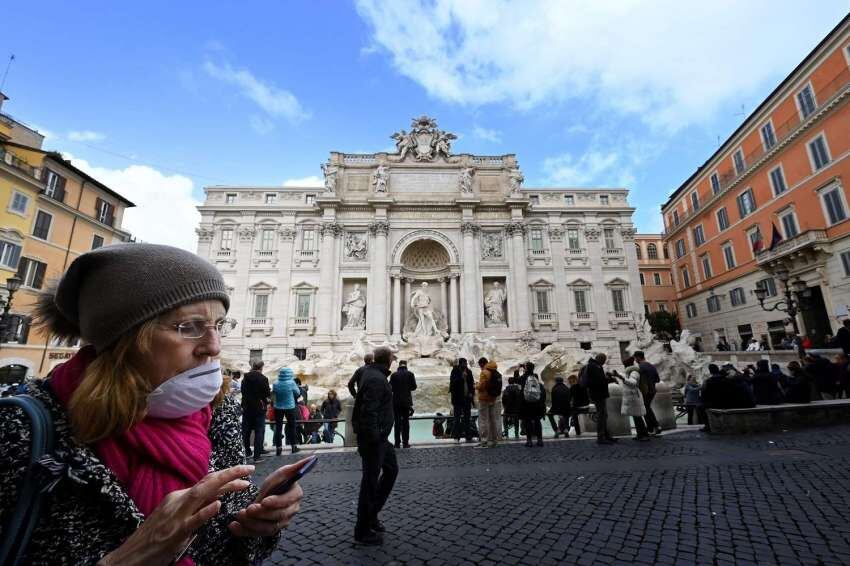
<svg viewBox="0 0 850 566"><path fill-rule="evenodd" d="M17 408L30 421L32 444L27 470L19 481L18 501L3 527L0 541L0 564L17 566L23 562L30 537L35 530L43 503L43 494L35 472L36 463L53 451L53 419L38 399L15 395L0 399L0 409Z"/></svg>

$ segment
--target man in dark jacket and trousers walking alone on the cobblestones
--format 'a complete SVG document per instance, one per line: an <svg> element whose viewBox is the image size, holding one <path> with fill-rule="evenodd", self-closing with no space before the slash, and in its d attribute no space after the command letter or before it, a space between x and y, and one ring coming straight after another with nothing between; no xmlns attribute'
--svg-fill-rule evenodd
<svg viewBox="0 0 850 566"><path fill-rule="evenodd" d="M395 450L388 440L393 428L393 392L387 382L392 358L389 348L375 350L374 362L361 375L352 414L357 452L363 462L354 540L366 545L383 542L384 526L378 520L378 513L398 475Z"/></svg>

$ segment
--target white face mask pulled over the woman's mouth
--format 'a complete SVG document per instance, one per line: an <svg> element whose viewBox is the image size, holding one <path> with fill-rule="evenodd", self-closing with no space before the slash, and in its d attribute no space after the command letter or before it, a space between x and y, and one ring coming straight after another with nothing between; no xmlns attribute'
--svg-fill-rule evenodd
<svg viewBox="0 0 850 566"><path fill-rule="evenodd" d="M178 419L209 405L221 389L221 363L213 360L179 373L148 395L148 415Z"/></svg>

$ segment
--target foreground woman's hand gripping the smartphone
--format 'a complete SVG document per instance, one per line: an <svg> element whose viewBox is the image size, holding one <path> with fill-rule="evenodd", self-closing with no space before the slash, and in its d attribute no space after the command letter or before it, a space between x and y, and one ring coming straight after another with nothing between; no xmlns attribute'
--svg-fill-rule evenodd
<svg viewBox="0 0 850 566"><path fill-rule="evenodd" d="M296 483L282 495L267 494L308 460L305 458L290 466L282 466L270 474L254 503L236 513L236 520L229 525L230 532L240 537L272 536L287 527L300 508L304 495L301 486Z"/></svg>

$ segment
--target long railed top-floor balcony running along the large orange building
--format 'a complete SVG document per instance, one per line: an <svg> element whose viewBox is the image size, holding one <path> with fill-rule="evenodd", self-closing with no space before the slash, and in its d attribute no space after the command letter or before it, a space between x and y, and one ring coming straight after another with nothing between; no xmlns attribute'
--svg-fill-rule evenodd
<svg viewBox="0 0 850 566"><path fill-rule="evenodd" d="M758 169L764 163L766 158L770 157L775 152L780 151L786 141L794 137L802 128L817 120L818 115L823 109L827 108L838 98L843 97L848 93L850 93L850 69L844 68L835 75L835 77L833 77L826 86L822 87L815 93L815 97L819 101L815 109L802 118L800 117L800 114L794 113L794 115L788 120L777 126L774 132L776 141L767 148L765 148L764 145L759 144L755 150L745 155L744 168L740 172L735 170L734 163L724 163L723 167L718 167L717 176L720 180L719 190L710 195L701 194L700 198L708 198L704 202L700 203L698 210L680 210L679 222L675 223L674 226L666 227L664 231L661 232L661 236L664 238L671 236L687 224L687 221L692 217L708 209L727 191L727 189L735 186L741 178L746 177ZM731 154L724 154L722 156L722 160L725 162L730 155ZM706 171L706 173L710 174L709 171ZM681 199L681 202L685 202L684 198Z"/></svg>

